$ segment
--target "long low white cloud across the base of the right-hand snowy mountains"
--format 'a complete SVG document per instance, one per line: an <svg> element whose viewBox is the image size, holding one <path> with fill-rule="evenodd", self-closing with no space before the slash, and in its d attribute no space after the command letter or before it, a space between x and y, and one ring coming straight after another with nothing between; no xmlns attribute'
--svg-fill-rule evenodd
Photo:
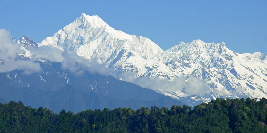
<svg viewBox="0 0 267 133"><path fill-rule="evenodd" d="M159 77L135 78L133 72L125 72L117 76L117 78L152 90L183 91L186 95L204 95L211 91L207 82L193 76L188 78L182 76L176 77L173 80L167 80Z"/></svg>

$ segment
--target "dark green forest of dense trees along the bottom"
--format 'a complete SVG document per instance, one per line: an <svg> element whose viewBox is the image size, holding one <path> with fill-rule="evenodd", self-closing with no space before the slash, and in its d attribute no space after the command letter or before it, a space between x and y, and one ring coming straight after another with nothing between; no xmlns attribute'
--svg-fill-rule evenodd
<svg viewBox="0 0 267 133"><path fill-rule="evenodd" d="M23 103L0 105L0 132L267 132L267 99L221 99L188 106L87 110L77 114Z"/></svg>

